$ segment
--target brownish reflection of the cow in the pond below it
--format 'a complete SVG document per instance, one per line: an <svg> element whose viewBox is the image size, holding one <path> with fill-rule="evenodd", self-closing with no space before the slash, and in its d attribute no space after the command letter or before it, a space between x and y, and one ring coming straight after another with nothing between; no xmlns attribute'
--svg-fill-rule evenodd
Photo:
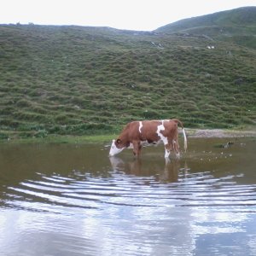
<svg viewBox="0 0 256 256"><path fill-rule="evenodd" d="M143 161L141 159L131 160L125 162L119 157L109 158L111 166L114 171L125 172L128 175L135 175L137 177L155 177L155 180L160 183L175 183L178 181L179 170L187 169L180 168L179 160L167 160L165 165L154 161Z"/></svg>

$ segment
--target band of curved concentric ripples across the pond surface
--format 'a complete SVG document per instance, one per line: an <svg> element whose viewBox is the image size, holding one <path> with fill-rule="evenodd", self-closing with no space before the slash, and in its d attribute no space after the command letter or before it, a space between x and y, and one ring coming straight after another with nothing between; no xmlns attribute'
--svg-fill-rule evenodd
<svg viewBox="0 0 256 256"><path fill-rule="evenodd" d="M241 185L230 177L211 173L179 173L178 183L160 183L155 176L137 177L112 171L108 177L92 177L73 172L73 177L50 177L38 173L9 187L5 202L9 207L34 211L71 213L73 208L128 207L246 207L256 206L256 186Z"/></svg>

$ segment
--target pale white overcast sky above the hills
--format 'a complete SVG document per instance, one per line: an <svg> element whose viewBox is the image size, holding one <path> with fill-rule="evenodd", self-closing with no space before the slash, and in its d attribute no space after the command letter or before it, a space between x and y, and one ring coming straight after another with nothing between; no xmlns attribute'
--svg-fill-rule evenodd
<svg viewBox="0 0 256 256"><path fill-rule="evenodd" d="M256 6L256 0L0 0L0 6L0 24L153 31L185 18Z"/></svg>

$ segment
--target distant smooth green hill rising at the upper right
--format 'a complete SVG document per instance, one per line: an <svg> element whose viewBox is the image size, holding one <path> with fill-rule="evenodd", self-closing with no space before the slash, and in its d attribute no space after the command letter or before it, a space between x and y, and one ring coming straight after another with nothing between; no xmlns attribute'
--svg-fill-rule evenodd
<svg viewBox="0 0 256 256"><path fill-rule="evenodd" d="M178 20L156 32L191 33L256 49L256 6Z"/></svg>

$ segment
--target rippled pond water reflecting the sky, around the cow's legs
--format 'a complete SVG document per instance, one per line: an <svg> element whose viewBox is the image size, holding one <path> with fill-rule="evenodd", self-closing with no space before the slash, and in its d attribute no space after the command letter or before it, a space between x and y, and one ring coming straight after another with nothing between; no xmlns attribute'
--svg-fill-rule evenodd
<svg viewBox="0 0 256 256"><path fill-rule="evenodd" d="M222 148L228 142L228 148ZM256 140L0 147L0 255L256 255Z"/></svg>

